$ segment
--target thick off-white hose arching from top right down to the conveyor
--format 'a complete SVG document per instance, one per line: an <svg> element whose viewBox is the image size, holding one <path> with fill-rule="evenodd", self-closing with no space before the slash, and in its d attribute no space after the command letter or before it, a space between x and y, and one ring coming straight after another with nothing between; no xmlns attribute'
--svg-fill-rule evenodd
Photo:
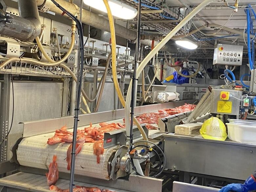
<svg viewBox="0 0 256 192"><path fill-rule="evenodd" d="M139 78L139 75L141 74L144 67L147 65L147 63L150 61L150 59L159 52L159 50L178 32L181 30L181 28L190 21L199 11L201 11L205 6L210 4L215 0L205 0L203 1L199 6L197 6L193 11L191 11L188 16L186 16L163 40L144 58L144 60L140 63L138 69L136 78ZM130 133L130 106L131 106L131 92L132 92L132 80L130 81L130 85L127 91L126 95L126 102L125 102L125 127L126 127L126 133ZM127 120L128 119L128 120ZM129 131L127 130L129 129Z"/></svg>

